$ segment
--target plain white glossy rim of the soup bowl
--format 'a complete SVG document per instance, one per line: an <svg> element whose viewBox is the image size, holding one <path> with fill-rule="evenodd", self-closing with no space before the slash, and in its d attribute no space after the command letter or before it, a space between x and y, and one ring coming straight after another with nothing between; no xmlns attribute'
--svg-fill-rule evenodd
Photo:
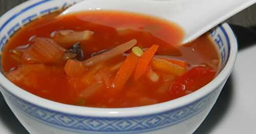
<svg viewBox="0 0 256 134"><path fill-rule="evenodd" d="M38 1L38 0L37 0ZM22 3L12 10L9 10L3 16L0 17L0 21L6 20L8 16L12 15L13 11L18 8L26 7L33 4L35 1L27 1ZM193 92L189 95L185 95L183 97L154 104L147 106L139 106L134 108L89 108L83 106L75 106L69 104L63 104L55 101L51 101L48 99L41 98L39 96L33 95L16 85L10 82L4 74L0 74L0 86L7 92L12 95L25 100L33 105L39 106L44 109L52 110L59 113L67 113L72 115L79 116L91 116L91 117L134 117L134 116L145 116L152 115L157 113L163 113L170 110L179 109L189 103L193 103L197 100L200 100L215 91L215 89L220 86L223 82L226 81L228 76L231 74L234 64L237 59L237 51L238 51L238 42L236 36L231 30L230 26L227 23L223 23L220 25L223 28L224 32L227 34L227 38L230 41L230 53L228 56L228 61L223 68L223 70L211 81L209 84L204 86L203 88Z"/></svg>

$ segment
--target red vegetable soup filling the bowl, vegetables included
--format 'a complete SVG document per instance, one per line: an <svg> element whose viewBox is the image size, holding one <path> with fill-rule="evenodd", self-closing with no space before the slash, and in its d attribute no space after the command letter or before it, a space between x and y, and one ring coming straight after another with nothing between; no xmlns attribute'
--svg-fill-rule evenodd
<svg viewBox="0 0 256 134"><path fill-rule="evenodd" d="M160 18L58 14L24 26L3 50L6 77L39 97L97 108L150 105L193 93L219 71L207 34L181 45L182 29Z"/></svg>

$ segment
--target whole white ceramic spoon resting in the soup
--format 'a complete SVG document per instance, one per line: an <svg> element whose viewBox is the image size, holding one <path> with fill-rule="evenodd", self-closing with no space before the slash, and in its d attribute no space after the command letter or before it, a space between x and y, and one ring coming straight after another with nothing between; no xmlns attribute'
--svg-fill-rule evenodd
<svg viewBox="0 0 256 134"><path fill-rule="evenodd" d="M86 0L71 6L60 15L85 10L125 10L158 16L181 26L185 33L182 41L184 44L255 2L256 0Z"/></svg>

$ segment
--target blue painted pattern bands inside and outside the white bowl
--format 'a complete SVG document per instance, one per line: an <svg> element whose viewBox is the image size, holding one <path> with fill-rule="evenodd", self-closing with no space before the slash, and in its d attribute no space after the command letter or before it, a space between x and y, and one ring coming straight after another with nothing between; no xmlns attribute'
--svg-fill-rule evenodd
<svg viewBox="0 0 256 134"><path fill-rule="evenodd" d="M41 4L50 2L50 0L39 1L20 12L16 13L10 17L1 27L0 33L5 29L12 20L14 20L19 15L31 8L40 6ZM21 26L26 25L32 20L38 18L39 16L52 13L54 11L65 9L70 4L63 2L62 5L48 7L38 13L32 14L25 17L20 22L14 24L6 33L0 37L0 48L3 49L4 44L7 43L8 39L21 28ZM221 31L221 32L216 32ZM218 34L217 34L218 33ZM223 35L221 35L223 34ZM230 51L230 42L225 32L224 28L219 25L215 30L211 31L212 39L217 43L218 49L221 52L221 67L225 66L228 61L227 55ZM224 38L223 38L224 37ZM227 45L223 45L224 41ZM4 89L4 87L2 87ZM6 89L2 92L6 99L15 105L15 109L21 111L24 115L29 118L33 118L41 123L47 124L52 127L59 129L74 131L74 132L99 132L99 133L138 133L153 131L161 129L164 127L172 126L178 124L184 120L187 120L203 110L205 110L211 103L214 103L215 97L218 95L218 91L215 90L207 96L192 102L188 105L182 106L179 109L170 110L154 115L145 115L138 117L126 117L126 118L99 118L99 117L87 117L87 116L77 116L66 113L60 113L58 111L52 111L46 108L42 108L38 105L27 102L19 97L8 92Z"/></svg>

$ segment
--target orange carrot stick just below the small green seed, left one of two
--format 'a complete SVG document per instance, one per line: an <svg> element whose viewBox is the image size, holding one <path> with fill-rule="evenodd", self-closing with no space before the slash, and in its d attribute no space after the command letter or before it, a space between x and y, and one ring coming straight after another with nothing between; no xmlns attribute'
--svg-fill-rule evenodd
<svg viewBox="0 0 256 134"><path fill-rule="evenodd" d="M128 81L128 79L131 77L137 63L138 63L139 57L134 55L134 53L131 53L123 62L122 66L118 70L116 77L114 79L114 89L120 90L125 83Z"/></svg>

